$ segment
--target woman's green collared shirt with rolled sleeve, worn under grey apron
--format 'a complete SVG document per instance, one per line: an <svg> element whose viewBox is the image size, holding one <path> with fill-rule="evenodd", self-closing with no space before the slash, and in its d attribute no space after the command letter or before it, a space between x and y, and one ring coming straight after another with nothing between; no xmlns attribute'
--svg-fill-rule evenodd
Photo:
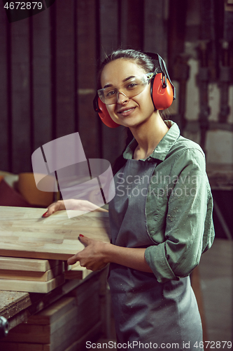
<svg viewBox="0 0 233 351"><path fill-rule="evenodd" d="M202 148L183 138L172 121L147 161L157 161L146 200L148 232L155 241L145 258L158 282L188 276L213 244L213 199ZM123 156L132 159L136 140ZM144 160L145 161L145 160Z"/></svg>

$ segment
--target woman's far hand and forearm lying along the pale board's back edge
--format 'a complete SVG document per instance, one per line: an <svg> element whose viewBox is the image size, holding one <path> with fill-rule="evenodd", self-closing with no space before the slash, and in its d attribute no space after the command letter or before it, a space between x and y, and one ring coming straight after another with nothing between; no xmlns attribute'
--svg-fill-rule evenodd
<svg viewBox="0 0 233 351"><path fill-rule="evenodd" d="M76 211L104 211L108 212L104 208L101 208L95 204L92 204L92 202L87 201L87 200L76 200L76 199L67 199L67 200L59 200L57 202L54 202L53 204L50 204L48 206L47 212L43 214L43 218L49 217L52 215L52 213L55 213L57 211L61 210L76 210Z"/></svg>

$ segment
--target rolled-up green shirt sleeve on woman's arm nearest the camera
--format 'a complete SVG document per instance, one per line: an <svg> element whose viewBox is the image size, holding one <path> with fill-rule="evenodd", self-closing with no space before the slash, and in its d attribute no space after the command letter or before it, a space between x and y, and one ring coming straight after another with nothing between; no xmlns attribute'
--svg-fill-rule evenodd
<svg viewBox="0 0 233 351"><path fill-rule="evenodd" d="M214 237L213 199L204 154L198 149L185 150L172 173L177 178L167 187L164 242L145 251L146 262L162 283L188 276Z"/></svg>

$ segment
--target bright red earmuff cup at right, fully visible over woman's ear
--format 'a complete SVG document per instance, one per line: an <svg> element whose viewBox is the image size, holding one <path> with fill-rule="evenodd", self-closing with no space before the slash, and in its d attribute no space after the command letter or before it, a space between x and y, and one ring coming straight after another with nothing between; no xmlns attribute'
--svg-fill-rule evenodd
<svg viewBox="0 0 233 351"><path fill-rule="evenodd" d="M162 86L162 73L156 74L153 80L152 98L156 110L166 110L173 102L174 92L171 83L167 79L167 87Z"/></svg>

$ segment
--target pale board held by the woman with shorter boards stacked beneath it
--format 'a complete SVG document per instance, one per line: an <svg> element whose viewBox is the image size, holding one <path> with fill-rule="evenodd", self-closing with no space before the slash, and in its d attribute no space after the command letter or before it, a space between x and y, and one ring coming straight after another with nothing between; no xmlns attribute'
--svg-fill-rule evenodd
<svg viewBox="0 0 233 351"><path fill-rule="evenodd" d="M78 263L64 270L62 262L84 249L78 235L109 242L106 212L76 211L68 218L66 211L57 211L41 218L44 211L0 206L1 290L48 293L64 279L83 279L90 271Z"/></svg>

